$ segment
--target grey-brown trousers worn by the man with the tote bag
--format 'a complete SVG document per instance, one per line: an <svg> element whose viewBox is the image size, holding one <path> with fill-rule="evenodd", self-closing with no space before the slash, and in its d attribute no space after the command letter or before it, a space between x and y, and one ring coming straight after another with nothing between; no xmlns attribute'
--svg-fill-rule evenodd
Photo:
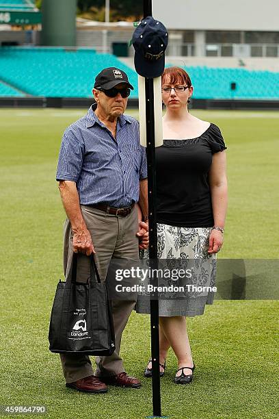
<svg viewBox="0 0 279 419"><path fill-rule="evenodd" d="M138 220L135 207L131 214L126 217L106 214L87 205L81 205L81 212L92 236L92 242L96 251L94 257L101 280L105 281L112 257L138 259L139 241L136 236ZM64 273L66 279L68 279L71 273L71 264L72 229L67 219L64 225ZM89 277L90 258L81 254L77 263L78 281L86 282ZM135 299L112 301L116 350L109 357L96 357L96 376L107 377L124 371L122 358L120 357L121 336L134 306ZM66 383L72 383L94 374L90 357L87 355L61 354L60 358Z"/></svg>

